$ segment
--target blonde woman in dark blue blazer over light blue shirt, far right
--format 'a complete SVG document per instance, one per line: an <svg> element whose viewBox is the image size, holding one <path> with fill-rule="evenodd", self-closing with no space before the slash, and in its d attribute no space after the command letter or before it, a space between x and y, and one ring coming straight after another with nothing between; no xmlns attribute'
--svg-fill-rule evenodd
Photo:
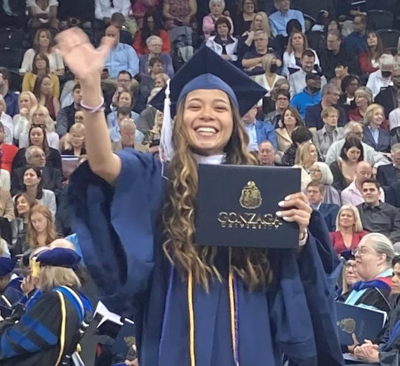
<svg viewBox="0 0 400 366"><path fill-rule="evenodd" d="M380 104L371 104L364 115L363 142L375 151L390 152L390 133L382 126L387 126L385 110Z"/></svg>

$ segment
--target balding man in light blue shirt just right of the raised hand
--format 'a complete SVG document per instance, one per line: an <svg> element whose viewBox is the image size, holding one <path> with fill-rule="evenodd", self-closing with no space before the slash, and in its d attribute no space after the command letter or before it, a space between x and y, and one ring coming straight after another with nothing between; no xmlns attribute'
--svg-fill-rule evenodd
<svg viewBox="0 0 400 366"><path fill-rule="evenodd" d="M114 47L105 59L105 70L102 72L102 85L110 88L116 86L116 78L122 70L131 76L138 74L139 57L132 46L119 42L119 29L114 25L105 29L105 36L114 39Z"/></svg>

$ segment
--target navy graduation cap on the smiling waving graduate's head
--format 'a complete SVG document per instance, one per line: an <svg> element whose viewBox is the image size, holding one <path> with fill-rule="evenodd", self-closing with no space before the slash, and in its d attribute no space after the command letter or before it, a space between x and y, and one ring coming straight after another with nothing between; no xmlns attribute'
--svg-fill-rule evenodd
<svg viewBox="0 0 400 366"><path fill-rule="evenodd" d="M150 104L163 111L164 87ZM170 83L171 116L176 114L178 101L192 90L220 89L225 91L244 116L267 93L240 69L227 62L207 46L201 46L193 57L173 76ZM168 93L168 92L167 92Z"/></svg>

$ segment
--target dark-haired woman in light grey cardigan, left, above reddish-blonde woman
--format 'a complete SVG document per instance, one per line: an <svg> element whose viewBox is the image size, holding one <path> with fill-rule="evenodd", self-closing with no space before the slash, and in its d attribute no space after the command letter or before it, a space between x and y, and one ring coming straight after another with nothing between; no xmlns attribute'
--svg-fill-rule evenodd
<svg viewBox="0 0 400 366"><path fill-rule="evenodd" d="M33 166L27 165L24 170L24 188L25 192L32 200L36 199L37 203L46 206L50 210L51 215L55 217L57 204L55 203L55 194L53 191L43 188L41 179L41 170Z"/></svg>

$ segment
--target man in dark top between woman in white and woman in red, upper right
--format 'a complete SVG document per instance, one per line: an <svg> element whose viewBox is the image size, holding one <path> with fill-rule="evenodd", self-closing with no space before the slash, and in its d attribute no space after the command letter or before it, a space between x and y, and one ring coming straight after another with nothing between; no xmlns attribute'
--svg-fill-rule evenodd
<svg viewBox="0 0 400 366"><path fill-rule="evenodd" d="M358 67L354 56L349 55L345 44L342 42L342 34L338 30L328 32L326 37L326 48L321 50L322 72L326 79L335 77L335 68L338 65L347 66L351 74L357 74Z"/></svg>

